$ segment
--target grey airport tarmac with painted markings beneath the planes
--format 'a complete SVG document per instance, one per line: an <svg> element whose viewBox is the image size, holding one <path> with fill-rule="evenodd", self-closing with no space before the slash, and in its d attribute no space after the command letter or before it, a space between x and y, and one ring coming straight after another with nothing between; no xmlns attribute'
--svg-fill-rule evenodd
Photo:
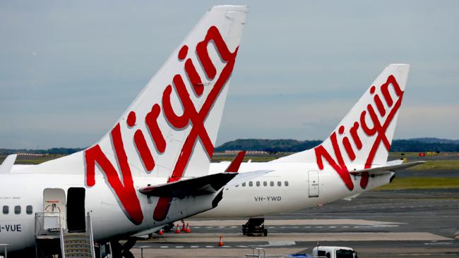
<svg viewBox="0 0 459 258"><path fill-rule="evenodd" d="M359 257L459 257L459 189L372 191L352 201L266 216L267 237L246 237L245 220L188 220L191 233L138 241L136 257L244 257L311 252L321 245L352 247ZM223 237L225 247L217 247Z"/></svg>

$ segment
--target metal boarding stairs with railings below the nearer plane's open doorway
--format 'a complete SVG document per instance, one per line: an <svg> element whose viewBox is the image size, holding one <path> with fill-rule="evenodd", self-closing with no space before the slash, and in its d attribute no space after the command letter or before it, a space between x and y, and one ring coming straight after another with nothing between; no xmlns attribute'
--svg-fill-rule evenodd
<svg viewBox="0 0 459 258"><path fill-rule="evenodd" d="M95 258L93 224L86 216L85 232L69 232L63 228L59 212L35 214L35 250L37 257L60 254L62 258ZM59 244L58 244L59 242ZM55 247L59 246L59 249Z"/></svg>

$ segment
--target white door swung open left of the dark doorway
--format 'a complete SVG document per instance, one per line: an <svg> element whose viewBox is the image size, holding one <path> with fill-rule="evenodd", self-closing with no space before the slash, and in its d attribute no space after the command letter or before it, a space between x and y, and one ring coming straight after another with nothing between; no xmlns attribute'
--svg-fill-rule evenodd
<svg viewBox="0 0 459 258"><path fill-rule="evenodd" d="M51 217L56 217L55 225L45 225L54 228L59 225L59 216L60 216L60 226L66 228L66 192L60 188L46 188L43 190L43 211L45 212L44 216L51 219ZM59 216L57 216L59 213Z"/></svg>

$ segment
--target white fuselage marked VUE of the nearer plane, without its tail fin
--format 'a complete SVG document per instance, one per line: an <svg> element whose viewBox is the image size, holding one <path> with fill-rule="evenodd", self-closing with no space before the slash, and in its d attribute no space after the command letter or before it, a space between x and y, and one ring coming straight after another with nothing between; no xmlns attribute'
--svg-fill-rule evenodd
<svg viewBox="0 0 459 258"><path fill-rule="evenodd" d="M161 178L133 178L136 187L163 183L159 182L159 179ZM96 180L102 182L104 178L97 176ZM148 198L138 193L143 210L143 222L136 226L126 218L114 193L105 183L88 188L83 182L84 176L68 174L0 175L0 243L11 245L8 247L10 251L35 245L35 213L51 211L50 206L44 202L46 198L44 191L49 189L63 190L67 195L68 188L85 188L85 213L91 213L95 240L150 233L167 223L212 208L213 195L174 198L167 218L164 221L154 221L153 210L157 204L157 197ZM58 208L64 216L64 225L62 225L64 228L66 228L65 201L64 197L64 205ZM15 207L20 207L18 214L15 212ZM28 212L27 207L32 207L32 212ZM4 214L4 209L8 209L8 214Z"/></svg>

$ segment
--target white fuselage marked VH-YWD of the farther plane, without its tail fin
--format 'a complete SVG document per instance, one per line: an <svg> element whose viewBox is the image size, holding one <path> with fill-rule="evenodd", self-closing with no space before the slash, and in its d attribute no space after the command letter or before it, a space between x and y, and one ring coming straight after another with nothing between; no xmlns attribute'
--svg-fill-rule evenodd
<svg viewBox="0 0 459 258"><path fill-rule="evenodd" d="M225 171L228 162L210 165L211 173ZM198 218L258 217L295 211L317 204L333 202L371 190L390 182L393 173L369 178L366 189L359 186L360 176L352 176L354 190L348 190L333 168L320 171L309 163L243 163L239 172L272 170L246 183L225 188L223 199L215 209L197 214ZM311 172L309 172L311 171ZM314 174L318 181L314 182ZM311 176L311 178L309 178ZM266 183L265 183L266 182ZM271 183L273 182L273 183Z"/></svg>

